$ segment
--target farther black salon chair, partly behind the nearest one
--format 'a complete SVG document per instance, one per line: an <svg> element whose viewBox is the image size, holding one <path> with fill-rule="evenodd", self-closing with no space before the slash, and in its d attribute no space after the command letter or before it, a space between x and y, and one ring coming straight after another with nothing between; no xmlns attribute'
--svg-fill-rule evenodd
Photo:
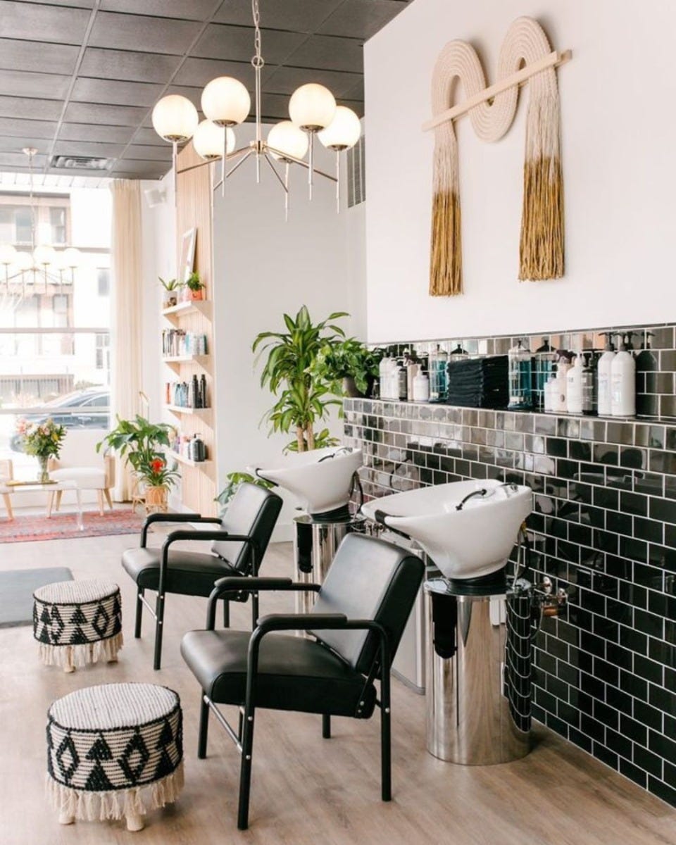
<svg viewBox="0 0 676 845"><path fill-rule="evenodd" d="M265 549L280 515L281 498L256 484L243 483L228 505L222 519L199 514L151 514L141 530L139 548L128 548L122 556L124 569L137 586L134 636L141 635L144 605L155 619L155 662L159 669L162 656L162 628L167 592L183 596L210 595L214 582L228 575L258 575ZM217 525L213 530L182 529L166 537L160 548L147 548L148 528L154 522L193 522ZM172 549L179 540L211 542L210 552L184 552ZM144 591L155 590L155 608ZM230 622L229 602L246 601L248 591L225 597L224 624ZM258 618L258 597L252 597L254 621Z"/></svg>

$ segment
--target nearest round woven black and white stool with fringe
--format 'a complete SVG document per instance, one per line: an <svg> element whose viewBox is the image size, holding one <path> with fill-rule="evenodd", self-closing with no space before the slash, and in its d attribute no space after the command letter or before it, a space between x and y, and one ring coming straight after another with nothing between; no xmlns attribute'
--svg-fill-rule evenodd
<svg viewBox="0 0 676 845"><path fill-rule="evenodd" d="M61 824L126 817L128 830L140 831L146 809L172 804L182 788L183 714L173 690L101 684L47 711L47 795Z"/></svg>

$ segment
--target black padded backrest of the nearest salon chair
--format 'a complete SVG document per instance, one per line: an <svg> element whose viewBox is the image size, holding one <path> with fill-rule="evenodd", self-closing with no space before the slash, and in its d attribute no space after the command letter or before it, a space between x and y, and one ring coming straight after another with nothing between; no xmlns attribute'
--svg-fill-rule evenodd
<svg viewBox="0 0 676 845"><path fill-rule="evenodd" d="M423 581L423 561L389 542L348 534L335 554L313 613L345 613L348 619L371 619L387 631L390 658ZM337 651L357 672L368 674L378 654L379 640L365 630L312 632Z"/></svg>

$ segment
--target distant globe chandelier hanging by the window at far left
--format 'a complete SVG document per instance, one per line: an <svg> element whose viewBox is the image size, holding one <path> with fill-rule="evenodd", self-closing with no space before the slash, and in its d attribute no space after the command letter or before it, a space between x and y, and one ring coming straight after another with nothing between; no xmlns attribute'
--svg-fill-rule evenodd
<svg viewBox="0 0 676 845"><path fill-rule="evenodd" d="M0 244L0 265L4 270L4 284L0 286L0 308L9 306L14 310L29 294L29 283L32 283L32 294L37 292L38 280L43 281L46 293L49 285L61 288L67 281L64 274L69 271L70 284L74 284L75 270L79 268L82 259L79 249L74 247L56 250L48 244L35 243L37 215L33 198L33 159L37 150L35 147L25 147L23 152L28 156L30 252L19 252L11 243Z"/></svg>

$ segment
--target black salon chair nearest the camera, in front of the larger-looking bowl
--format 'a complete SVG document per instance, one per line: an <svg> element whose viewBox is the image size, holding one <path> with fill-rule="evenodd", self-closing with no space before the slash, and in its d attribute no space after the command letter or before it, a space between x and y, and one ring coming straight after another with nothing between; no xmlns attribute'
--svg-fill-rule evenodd
<svg viewBox="0 0 676 845"><path fill-rule="evenodd" d="M213 710L242 756L237 827L248 827L248 803L257 707L321 713L324 738L330 717L368 719L380 708L382 799L391 797L390 666L423 580L423 562L390 543L349 534L324 585L289 578L224 578L209 600L207 630L183 637L181 653L202 688L198 756L206 756ZM216 602L244 590L317 592L312 613L272 613L253 633L215 630ZM308 630L312 639L267 636ZM379 696L374 681L379 679ZM237 731L217 704L239 706Z"/></svg>

